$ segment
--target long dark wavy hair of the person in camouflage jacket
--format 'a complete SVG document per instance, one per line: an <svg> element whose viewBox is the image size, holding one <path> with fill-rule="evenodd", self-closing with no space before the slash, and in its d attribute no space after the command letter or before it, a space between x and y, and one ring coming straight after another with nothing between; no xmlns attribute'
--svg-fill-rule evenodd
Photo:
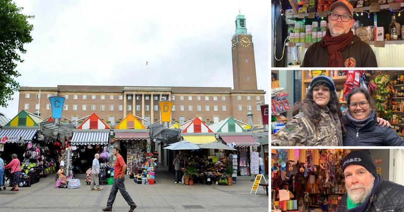
<svg viewBox="0 0 404 212"><path fill-rule="evenodd" d="M317 85L325 85L330 90L332 89L331 86L328 83L325 82L319 82L316 83L313 88ZM321 121L321 108L319 105L316 104L316 102L313 100L313 88L311 88L307 93L305 100L303 102L299 102L293 106L293 116L296 116L298 113L305 112L305 115L310 119L311 122L313 122L315 125L318 125ZM342 136L345 135L345 127L344 127L344 122L342 120L342 113L340 110L340 104L339 104L339 99L337 96L337 93L335 91L330 91L330 101L327 104L328 109L332 114L337 114L339 118L339 122L341 123L341 131L342 131Z"/></svg>

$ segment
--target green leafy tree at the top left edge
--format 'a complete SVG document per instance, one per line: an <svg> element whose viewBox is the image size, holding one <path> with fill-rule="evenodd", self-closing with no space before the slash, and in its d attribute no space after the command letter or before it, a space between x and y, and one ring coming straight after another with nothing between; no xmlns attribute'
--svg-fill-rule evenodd
<svg viewBox="0 0 404 212"><path fill-rule="evenodd" d="M21 14L11 0L0 0L0 106L7 107L7 101L13 99L14 92L20 88L16 78L21 74L16 70L22 63L19 54L24 54L25 43L32 41L33 26L27 19L34 16Z"/></svg>

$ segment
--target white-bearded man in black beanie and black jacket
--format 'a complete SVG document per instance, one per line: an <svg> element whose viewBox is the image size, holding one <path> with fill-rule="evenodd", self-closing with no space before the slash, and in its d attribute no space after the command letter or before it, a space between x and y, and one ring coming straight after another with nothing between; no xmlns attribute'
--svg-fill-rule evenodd
<svg viewBox="0 0 404 212"><path fill-rule="evenodd" d="M338 211L404 211L404 186L377 174L369 150L354 150L341 163L347 193Z"/></svg>

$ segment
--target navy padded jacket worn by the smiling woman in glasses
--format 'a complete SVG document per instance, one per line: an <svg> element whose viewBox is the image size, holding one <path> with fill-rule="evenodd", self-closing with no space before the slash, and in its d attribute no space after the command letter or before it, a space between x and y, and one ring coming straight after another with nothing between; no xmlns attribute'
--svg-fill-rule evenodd
<svg viewBox="0 0 404 212"><path fill-rule="evenodd" d="M378 126L376 116L357 131L354 124L342 117L346 136L342 138L344 146L404 146L404 140L390 127Z"/></svg>

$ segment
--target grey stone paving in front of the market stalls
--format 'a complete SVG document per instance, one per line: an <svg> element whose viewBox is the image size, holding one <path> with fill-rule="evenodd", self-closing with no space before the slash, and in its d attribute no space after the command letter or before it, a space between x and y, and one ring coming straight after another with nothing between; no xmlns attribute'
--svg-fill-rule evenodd
<svg viewBox="0 0 404 212"><path fill-rule="evenodd" d="M102 191L90 191L85 176L80 175L81 188L55 189L55 175L41 178L19 192L0 191L0 211L102 211L107 204L111 185ZM268 196L260 186L250 194L251 177L238 177L233 186L174 184L174 175L160 168L157 183L138 185L125 178L126 189L137 204L135 211L268 211ZM268 182L268 180L267 180ZM129 206L118 192L113 211L128 211Z"/></svg>

